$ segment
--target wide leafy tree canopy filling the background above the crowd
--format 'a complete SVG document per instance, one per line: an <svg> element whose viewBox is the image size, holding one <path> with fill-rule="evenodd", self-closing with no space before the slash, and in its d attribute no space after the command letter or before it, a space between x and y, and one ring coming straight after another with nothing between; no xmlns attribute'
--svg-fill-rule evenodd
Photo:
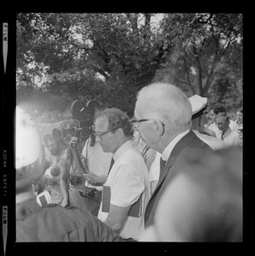
<svg viewBox="0 0 255 256"><path fill-rule="evenodd" d="M241 102L242 15L157 16L18 14L17 100L48 95L44 110L64 110L96 99L132 114L137 90L167 81L229 108Z"/></svg>

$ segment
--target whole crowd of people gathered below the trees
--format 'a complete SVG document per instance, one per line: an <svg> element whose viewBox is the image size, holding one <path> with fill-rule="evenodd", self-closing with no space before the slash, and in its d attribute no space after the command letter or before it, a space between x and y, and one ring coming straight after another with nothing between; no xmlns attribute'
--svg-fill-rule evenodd
<svg viewBox="0 0 255 256"><path fill-rule="evenodd" d="M242 241L235 117L154 83L133 117L97 109L90 137L65 143L17 107L16 241Z"/></svg>

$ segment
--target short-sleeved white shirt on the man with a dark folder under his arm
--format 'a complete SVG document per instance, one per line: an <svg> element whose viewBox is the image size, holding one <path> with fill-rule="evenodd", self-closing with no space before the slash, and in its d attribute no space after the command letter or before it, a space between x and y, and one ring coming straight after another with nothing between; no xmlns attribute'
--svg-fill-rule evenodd
<svg viewBox="0 0 255 256"><path fill-rule="evenodd" d="M111 188L110 203L118 207L129 207L142 195L142 217L128 216L119 235L135 238L144 230L144 212L150 195L148 170L142 155L130 141L124 143L113 155L114 164L105 185ZM105 221L108 212L99 210L98 218Z"/></svg>

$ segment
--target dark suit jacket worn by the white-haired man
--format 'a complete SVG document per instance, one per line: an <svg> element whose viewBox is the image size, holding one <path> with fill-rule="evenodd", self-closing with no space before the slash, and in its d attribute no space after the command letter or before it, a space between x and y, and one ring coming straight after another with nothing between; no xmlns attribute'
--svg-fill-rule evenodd
<svg viewBox="0 0 255 256"><path fill-rule="evenodd" d="M159 203L159 199L165 188L171 183L171 180L178 172L180 163L183 160L184 154L194 151L195 148L203 148L203 150L210 150L206 143L200 140L193 131L189 131L172 149L171 155L169 156L163 172L161 172L159 177L159 182L154 190L154 194L148 201L148 205L145 210L145 227L147 228L150 224L154 223L156 207Z"/></svg>

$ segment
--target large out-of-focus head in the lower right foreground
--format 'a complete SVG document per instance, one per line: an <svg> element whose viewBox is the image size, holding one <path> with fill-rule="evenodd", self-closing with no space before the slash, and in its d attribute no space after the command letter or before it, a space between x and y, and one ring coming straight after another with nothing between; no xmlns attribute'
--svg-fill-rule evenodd
<svg viewBox="0 0 255 256"><path fill-rule="evenodd" d="M186 155L141 241L242 241L241 148Z"/></svg>

